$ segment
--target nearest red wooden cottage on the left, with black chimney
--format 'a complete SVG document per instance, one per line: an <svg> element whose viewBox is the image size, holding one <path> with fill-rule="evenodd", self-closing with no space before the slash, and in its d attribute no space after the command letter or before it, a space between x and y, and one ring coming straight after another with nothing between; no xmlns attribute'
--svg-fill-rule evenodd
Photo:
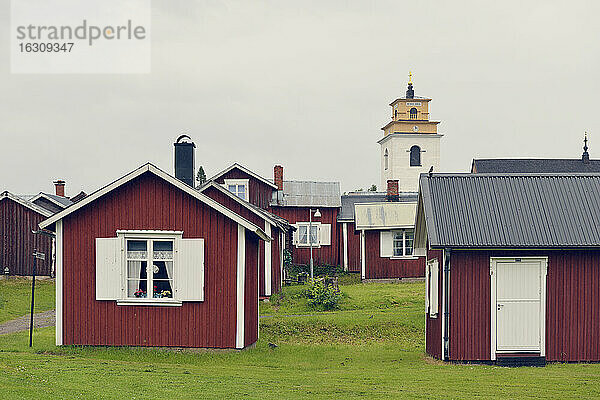
<svg viewBox="0 0 600 400"><path fill-rule="evenodd" d="M176 173L191 182L185 145ZM146 164L40 224L56 232L57 345L256 342L258 248L269 238L180 179Z"/></svg>

